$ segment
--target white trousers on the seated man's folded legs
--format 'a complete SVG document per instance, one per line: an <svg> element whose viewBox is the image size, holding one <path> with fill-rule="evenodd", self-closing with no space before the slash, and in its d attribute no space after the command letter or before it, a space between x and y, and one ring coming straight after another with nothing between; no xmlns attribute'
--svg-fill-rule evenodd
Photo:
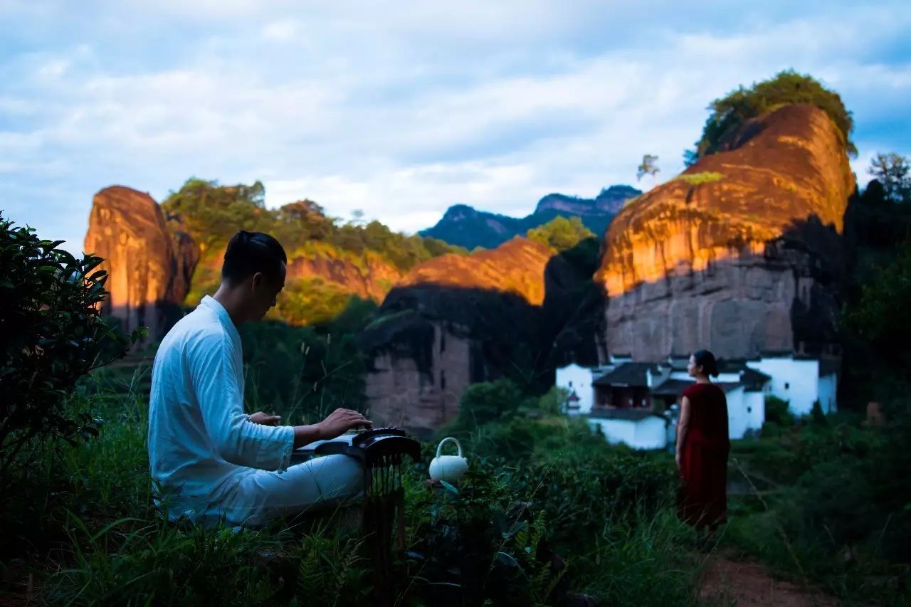
<svg viewBox="0 0 911 607"><path fill-rule="evenodd" d="M361 494L361 464L348 456L324 456L281 474L257 470L242 478L222 503L213 504L204 519L224 515L231 526L257 527L281 516L332 508Z"/></svg>

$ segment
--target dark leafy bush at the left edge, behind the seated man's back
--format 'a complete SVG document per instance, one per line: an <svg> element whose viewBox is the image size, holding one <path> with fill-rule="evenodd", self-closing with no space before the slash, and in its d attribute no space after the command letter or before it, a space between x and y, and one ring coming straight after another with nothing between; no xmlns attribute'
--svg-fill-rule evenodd
<svg viewBox="0 0 911 607"><path fill-rule="evenodd" d="M144 333L119 334L99 318L103 260L77 259L0 215L0 492L17 454L36 438L97 433L93 418L62 408L79 377L126 353ZM94 271L94 272L93 272Z"/></svg>

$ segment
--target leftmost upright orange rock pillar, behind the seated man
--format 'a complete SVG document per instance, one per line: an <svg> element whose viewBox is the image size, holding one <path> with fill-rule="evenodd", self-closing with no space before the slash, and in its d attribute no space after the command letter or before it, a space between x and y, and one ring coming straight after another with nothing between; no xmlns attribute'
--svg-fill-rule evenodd
<svg viewBox="0 0 911 607"><path fill-rule="evenodd" d="M116 316L126 331L144 325L153 338L163 334L198 259L179 221L166 221L147 193L111 186L95 195L85 250L105 260L99 266L108 273L103 313Z"/></svg>

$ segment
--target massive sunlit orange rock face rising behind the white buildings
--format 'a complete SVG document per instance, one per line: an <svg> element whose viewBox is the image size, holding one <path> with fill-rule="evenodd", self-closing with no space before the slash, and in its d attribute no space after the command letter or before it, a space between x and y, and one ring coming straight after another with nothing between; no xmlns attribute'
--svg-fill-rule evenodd
<svg viewBox="0 0 911 607"><path fill-rule="evenodd" d="M844 210L855 189L825 113L786 106L743 126L609 226L596 280L610 352L818 352L834 339Z"/></svg>

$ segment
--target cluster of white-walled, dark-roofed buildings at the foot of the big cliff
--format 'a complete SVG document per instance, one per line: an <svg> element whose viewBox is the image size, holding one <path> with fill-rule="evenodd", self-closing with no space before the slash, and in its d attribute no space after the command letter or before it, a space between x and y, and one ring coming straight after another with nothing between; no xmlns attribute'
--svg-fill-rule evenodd
<svg viewBox="0 0 911 607"><path fill-rule="evenodd" d="M679 404L693 379L686 374L688 357L665 362L632 362L611 357L610 364L591 368L568 365L557 370L557 386L570 392L568 415L589 417L612 443L633 448L665 448L673 441L669 415L660 412ZM819 400L824 413L837 410L837 365L791 354L765 355L756 360L720 361L714 378L728 403L732 439L750 436L765 423L765 397L789 402L794 415L809 415Z"/></svg>

